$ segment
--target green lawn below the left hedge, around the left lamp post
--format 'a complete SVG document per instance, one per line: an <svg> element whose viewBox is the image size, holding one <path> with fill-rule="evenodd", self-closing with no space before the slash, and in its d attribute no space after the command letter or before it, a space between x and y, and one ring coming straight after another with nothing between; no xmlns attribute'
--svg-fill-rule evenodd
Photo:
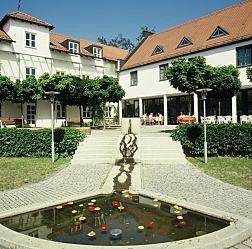
<svg viewBox="0 0 252 249"><path fill-rule="evenodd" d="M26 183L39 182L70 159L60 158L53 165L50 158L0 158L0 191Z"/></svg>

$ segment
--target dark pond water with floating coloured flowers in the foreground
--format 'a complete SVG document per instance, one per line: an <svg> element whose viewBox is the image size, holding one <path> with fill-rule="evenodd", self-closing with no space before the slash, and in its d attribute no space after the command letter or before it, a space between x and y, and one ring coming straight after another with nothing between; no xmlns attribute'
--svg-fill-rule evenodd
<svg viewBox="0 0 252 249"><path fill-rule="evenodd" d="M88 203L92 199L96 200L94 207L100 207L100 211L88 210ZM125 209L120 212L112 205L113 201L117 201L118 205L122 205ZM128 192L122 194L118 191L113 195L92 197L73 205L62 206L61 210L56 207L48 208L2 219L0 223L17 232L41 239L111 246L188 239L228 226L228 222L185 209L180 211L167 203L143 196L132 196ZM73 214L73 210L77 213ZM181 213L174 213L176 210ZM182 216L183 222L180 225L178 215ZM82 216L86 217L86 221L80 223L78 217ZM104 225L107 231L101 230L101 226ZM144 226L144 230L139 232L138 226ZM118 228L122 230L122 236L119 239L112 239L110 230ZM94 239L87 236L90 231L96 233Z"/></svg>

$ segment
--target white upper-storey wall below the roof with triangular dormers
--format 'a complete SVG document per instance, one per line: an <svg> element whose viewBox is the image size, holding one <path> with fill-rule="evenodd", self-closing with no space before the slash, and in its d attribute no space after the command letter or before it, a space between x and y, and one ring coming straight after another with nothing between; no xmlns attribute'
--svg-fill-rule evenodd
<svg viewBox="0 0 252 249"><path fill-rule="evenodd" d="M185 56L185 58L204 56L206 58L207 64L212 66L236 66L236 47L241 47L248 44L252 44L252 40L221 48L211 49L200 53L195 53ZM150 53L151 52L152 51L150 51ZM139 97L147 98L154 96L163 96L164 94L178 95L179 92L171 87L169 81L159 81L159 65L166 63L171 63L171 60L166 60L120 72L119 82L126 91L124 99L133 99ZM130 86L130 72L136 70L138 72L138 85ZM250 83L246 76L246 68L240 68L239 71L243 87L249 85Z"/></svg>

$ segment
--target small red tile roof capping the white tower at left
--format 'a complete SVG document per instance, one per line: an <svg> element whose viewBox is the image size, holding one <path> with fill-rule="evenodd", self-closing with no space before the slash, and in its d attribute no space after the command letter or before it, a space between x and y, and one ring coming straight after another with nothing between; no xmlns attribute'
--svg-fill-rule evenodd
<svg viewBox="0 0 252 249"><path fill-rule="evenodd" d="M40 26L48 27L50 30L54 28L54 26L50 23L44 22L39 20L36 17L30 16L26 13L17 11L17 12L12 12L4 16L4 18L0 22L0 27L2 27L10 18L18 19L21 21L26 21L29 23L34 23Z"/></svg>

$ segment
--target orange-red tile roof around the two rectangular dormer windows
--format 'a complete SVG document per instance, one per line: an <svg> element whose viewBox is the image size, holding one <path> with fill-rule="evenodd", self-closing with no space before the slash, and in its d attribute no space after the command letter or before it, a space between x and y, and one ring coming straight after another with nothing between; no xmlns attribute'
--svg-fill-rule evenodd
<svg viewBox="0 0 252 249"><path fill-rule="evenodd" d="M92 46L92 45L102 47L103 48L103 58L105 58L107 60L112 60L112 61L122 60L128 54L128 51L120 49L120 48L107 46L107 45L103 45L103 44L100 44L97 42L90 42L90 41L87 41L84 39L73 38L70 36L56 34L56 33L50 33L50 43L51 43L50 47L51 47L51 49L57 50L59 52L68 52L68 50L64 46L61 45L66 40L73 40L73 41L79 42L80 43L80 54L85 55L85 56L89 56L89 57L93 57L93 54L90 53L85 48Z"/></svg>

